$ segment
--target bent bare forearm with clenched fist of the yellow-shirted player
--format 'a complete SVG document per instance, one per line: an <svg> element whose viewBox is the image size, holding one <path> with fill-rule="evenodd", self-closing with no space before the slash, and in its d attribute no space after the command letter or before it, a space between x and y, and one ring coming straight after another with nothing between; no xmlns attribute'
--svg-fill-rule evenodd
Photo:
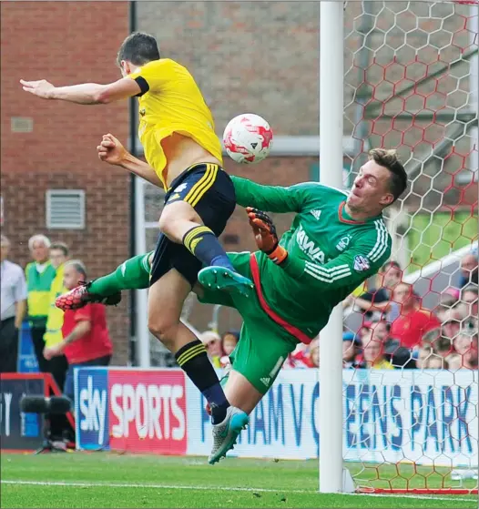
<svg viewBox="0 0 479 509"><path fill-rule="evenodd" d="M101 143L97 146L97 153L100 161L125 168L154 186L163 188L157 172L148 163L130 154L117 137L111 134L104 135Z"/></svg>

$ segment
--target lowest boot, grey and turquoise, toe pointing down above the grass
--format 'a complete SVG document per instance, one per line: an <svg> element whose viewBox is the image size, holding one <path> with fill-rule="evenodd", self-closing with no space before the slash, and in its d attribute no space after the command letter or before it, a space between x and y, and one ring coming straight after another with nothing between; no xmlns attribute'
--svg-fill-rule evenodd
<svg viewBox="0 0 479 509"><path fill-rule="evenodd" d="M214 464L226 456L233 449L241 430L245 430L250 417L235 406L229 406L223 422L213 424L213 448L209 454L208 463Z"/></svg>

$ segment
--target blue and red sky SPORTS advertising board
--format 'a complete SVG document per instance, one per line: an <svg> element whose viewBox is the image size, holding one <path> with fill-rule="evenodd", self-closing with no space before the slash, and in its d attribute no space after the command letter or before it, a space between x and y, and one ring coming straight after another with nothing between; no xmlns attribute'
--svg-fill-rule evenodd
<svg viewBox="0 0 479 509"><path fill-rule="evenodd" d="M187 414L182 372L97 370L77 376L80 448L181 453Z"/></svg>

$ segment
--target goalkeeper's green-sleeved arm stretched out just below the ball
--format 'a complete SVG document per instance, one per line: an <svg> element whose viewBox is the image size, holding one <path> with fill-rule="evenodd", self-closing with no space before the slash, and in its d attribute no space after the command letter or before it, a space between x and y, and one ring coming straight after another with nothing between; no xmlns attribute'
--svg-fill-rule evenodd
<svg viewBox="0 0 479 509"><path fill-rule="evenodd" d="M300 212L307 203L311 183L296 184L290 188L262 186L247 178L231 176L236 201L241 207L254 207L268 212Z"/></svg>

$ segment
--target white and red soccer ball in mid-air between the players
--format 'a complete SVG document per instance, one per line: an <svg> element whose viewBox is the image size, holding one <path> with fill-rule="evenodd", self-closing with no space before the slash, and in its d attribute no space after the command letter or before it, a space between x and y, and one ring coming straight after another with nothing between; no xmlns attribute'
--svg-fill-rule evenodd
<svg viewBox="0 0 479 509"><path fill-rule="evenodd" d="M255 164L270 153L273 132L264 118L245 113L229 120L223 134L223 143L233 161Z"/></svg>

